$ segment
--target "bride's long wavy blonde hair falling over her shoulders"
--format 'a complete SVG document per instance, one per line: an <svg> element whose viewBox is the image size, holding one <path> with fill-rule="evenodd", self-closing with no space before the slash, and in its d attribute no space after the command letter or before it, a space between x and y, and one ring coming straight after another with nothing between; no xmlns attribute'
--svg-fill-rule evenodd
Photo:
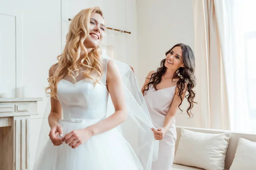
<svg viewBox="0 0 256 170"><path fill-rule="evenodd" d="M94 47L90 53L84 46L84 41L89 34L90 16L93 13L100 14L103 18L102 10L99 7L87 8L81 10L73 18L70 23L69 31L67 33L67 42L64 51L57 57L58 62L49 70L49 86L46 88L47 94L56 98L58 82L65 76L71 77L76 82L76 77L79 75L79 68L85 67L83 72L84 78L91 79L94 84L100 81L102 77L102 63L100 59L100 48ZM104 18L103 18L104 19ZM84 52L81 56L81 52ZM91 74L95 71L96 74Z"/></svg>

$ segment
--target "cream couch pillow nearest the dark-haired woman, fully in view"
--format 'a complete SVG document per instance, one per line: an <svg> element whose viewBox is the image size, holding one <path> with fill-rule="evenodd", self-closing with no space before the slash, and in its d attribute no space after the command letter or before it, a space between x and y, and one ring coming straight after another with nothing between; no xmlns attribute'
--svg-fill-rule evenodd
<svg viewBox="0 0 256 170"><path fill-rule="evenodd" d="M223 170L230 137L230 132L211 134L182 128L174 163Z"/></svg>

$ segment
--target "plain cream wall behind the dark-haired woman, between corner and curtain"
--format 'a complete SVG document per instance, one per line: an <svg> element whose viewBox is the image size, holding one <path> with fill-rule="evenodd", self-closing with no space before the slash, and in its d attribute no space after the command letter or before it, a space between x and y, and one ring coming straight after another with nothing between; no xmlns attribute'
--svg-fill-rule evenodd
<svg viewBox="0 0 256 170"><path fill-rule="evenodd" d="M194 48L194 25L191 0L138 0L138 78L142 86L149 71L156 70L165 52L177 43ZM176 116L176 125L195 126L187 119L187 103ZM196 116L196 115L195 115Z"/></svg>

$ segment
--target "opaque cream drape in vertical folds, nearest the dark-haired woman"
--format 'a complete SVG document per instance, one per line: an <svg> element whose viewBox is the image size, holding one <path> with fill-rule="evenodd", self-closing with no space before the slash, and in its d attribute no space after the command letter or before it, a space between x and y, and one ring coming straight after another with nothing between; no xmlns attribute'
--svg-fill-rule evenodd
<svg viewBox="0 0 256 170"><path fill-rule="evenodd" d="M221 55L216 9L213 0L192 0L194 12L195 122L196 127L230 129L227 87Z"/></svg>

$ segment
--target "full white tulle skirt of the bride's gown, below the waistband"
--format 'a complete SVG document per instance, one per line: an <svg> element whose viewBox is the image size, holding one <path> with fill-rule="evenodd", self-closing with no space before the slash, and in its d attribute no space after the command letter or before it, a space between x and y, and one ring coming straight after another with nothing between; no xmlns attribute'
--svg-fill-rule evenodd
<svg viewBox="0 0 256 170"><path fill-rule="evenodd" d="M96 122L61 121L64 135ZM139 159L117 128L91 137L73 149L54 146L49 139L33 170L143 170Z"/></svg>

